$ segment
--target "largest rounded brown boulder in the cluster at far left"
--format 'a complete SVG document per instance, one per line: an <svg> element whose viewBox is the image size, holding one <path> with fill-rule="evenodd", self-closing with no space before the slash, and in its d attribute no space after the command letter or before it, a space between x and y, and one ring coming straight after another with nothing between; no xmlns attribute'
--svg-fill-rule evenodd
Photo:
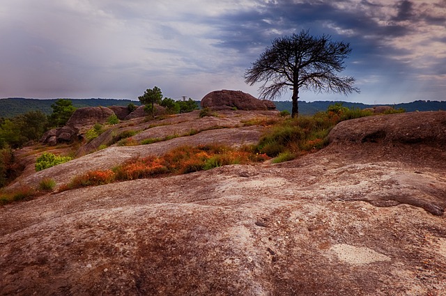
<svg viewBox="0 0 446 296"><path fill-rule="evenodd" d="M106 107L79 108L72 114L66 125L82 134L93 127L95 123L107 123L108 118L112 115L114 115L114 111Z"/></svg>

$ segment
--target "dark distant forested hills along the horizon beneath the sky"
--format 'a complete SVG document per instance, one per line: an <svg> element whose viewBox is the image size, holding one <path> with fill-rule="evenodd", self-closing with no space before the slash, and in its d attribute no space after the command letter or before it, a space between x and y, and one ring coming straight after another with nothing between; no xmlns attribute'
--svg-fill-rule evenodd
<svg viewBox="0 0 446 296"><path fill-rule="evenodd" d="M72 105L77 108L81 107L109 107L109 106L128 106L128 104L133 103L135 105L140 105L139 101L133 100L117 100L117 99L71 99ZM8 98L0 99L0 117L12 118L14 116L24 114L28 111L40 110L43 113L49 115L52 113L51 105L56 102L56 99L49 100L39 100L39 99L25 99L25 98ZM200 105L200 101L196 101ZM275 101L274 102L277 110L284 111L288 110L291 112L291 102L290 101ZM313 115L318 111L327 110L328 106L342 103L344 107L348 108L370 108L381 105L371 105L362 103L352 103L352 102L341 102L341 101L317 101L317 102L299 102L299 114L302 115ZM446 110L446 101L422 101L418 100L410 103L401 104L387 104L387 106L394 107L394 109L403 108L406 112L412 111L438 111Z"/></svg>

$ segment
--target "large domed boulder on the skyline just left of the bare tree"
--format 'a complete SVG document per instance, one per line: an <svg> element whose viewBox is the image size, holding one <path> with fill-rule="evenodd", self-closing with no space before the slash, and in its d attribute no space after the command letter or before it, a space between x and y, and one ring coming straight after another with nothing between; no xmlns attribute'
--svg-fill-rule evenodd
<svg viewBox="0 0 446 296"><path fill-rule="evenodd" d="M274 110L275 104L268 100L259 100L243 91L213 91L201 100L201 107L213 110Z"/></svg>

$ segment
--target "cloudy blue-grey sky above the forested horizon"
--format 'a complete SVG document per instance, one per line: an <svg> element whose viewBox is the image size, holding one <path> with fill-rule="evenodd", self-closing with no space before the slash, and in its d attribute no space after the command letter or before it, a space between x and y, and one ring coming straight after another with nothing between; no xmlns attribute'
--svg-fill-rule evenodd
<svg viewBox="0 0 446 296"><path fill-rule="evenodd" d="M446 0L1 0L0 98L259 97L245 71L302 30L350 43L361 93L300 100L446 100Z"/></svg>

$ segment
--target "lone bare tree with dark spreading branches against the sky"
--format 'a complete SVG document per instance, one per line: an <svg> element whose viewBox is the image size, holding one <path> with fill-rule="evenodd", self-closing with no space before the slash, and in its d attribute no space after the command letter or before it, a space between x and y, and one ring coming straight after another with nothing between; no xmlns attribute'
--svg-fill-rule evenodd
<svg viewBox="0 0 446 296"><path fill-rule="evenodd" d="M345 69L344 59L351 53L350 44L334 42L331 36L311 36L309 31L272 40L272 46L245 72L245 82L259 88L262 99L279 98L286 88L293 90L292 116L298 116L299 90L318 93L359 93L355 78L338 77Z"/></svg>

